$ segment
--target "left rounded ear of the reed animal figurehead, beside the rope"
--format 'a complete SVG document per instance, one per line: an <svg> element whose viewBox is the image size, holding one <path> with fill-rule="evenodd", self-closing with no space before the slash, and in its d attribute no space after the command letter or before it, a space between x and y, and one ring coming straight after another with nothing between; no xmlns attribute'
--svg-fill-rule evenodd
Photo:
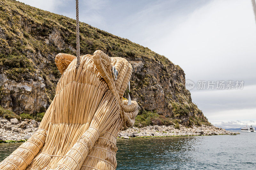
<svg viewBox="0 0 256 170"><path fill-rule="evenodd" d="M55 64L62 75L68 65L76 58L74 55L59 53L55 57Z"/></svg>

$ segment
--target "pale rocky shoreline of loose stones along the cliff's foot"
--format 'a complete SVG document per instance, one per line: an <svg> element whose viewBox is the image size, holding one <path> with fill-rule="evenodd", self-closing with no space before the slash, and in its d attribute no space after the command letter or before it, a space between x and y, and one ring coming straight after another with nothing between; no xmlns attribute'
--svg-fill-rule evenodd
<svg viewBox="0 0 256 170"><path fill-rule="evenodd" d="M14 118L10 121L0 117L0 143L24 142L31 137L40 122L24 119L18 121ZM174 137L174 136L199 136L199 135L236 135L239 132L230 132L214 126L193 126L190 128L180 125L179 129L174 126L146 126L143 128L132 127L121 131L117 138L130 139L130 137Z"/></svg>

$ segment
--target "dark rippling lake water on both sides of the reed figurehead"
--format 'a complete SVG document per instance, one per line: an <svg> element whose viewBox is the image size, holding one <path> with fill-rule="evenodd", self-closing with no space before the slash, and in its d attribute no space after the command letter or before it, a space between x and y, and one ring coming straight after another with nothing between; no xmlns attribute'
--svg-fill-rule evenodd
<svg viewBox="0 0 256 170"><path fill-rule="evenodd" d="M256 133L118 139L117 170L256 169ZM0 160L17 144L0 144Z"/></svg>

